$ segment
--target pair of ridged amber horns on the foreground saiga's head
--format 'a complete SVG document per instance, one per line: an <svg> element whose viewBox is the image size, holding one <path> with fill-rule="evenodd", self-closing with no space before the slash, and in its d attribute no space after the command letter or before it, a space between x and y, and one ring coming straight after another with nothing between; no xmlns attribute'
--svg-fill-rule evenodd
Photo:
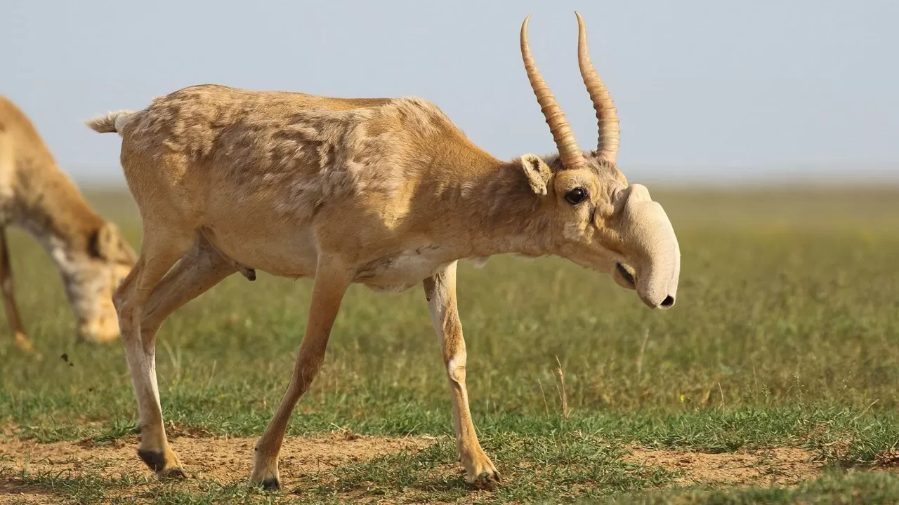
<svg viewBox="0 0 899 505"><path fill-rule="evenodd" d="M619 118L618 111L606 85L602 84L600 75L596 73L593 64L590 61L590 52L587 49L587 29L583 25L581 14L574 13L577 16L578 36L577 36L577 63L581 67L581 77L583 84L587 86L587 93L590 93L590 100L593 102L593 110L596 111L596 120L599 124L599 140L597 149L601 158L614 162L618 157L619 147ZM574 130L568 120L565 120L565 112L556 102L556 97L549 91L547 82L540 75L534 58L530 55L530 46L528 45L528 21L530 14L524 18L521 23L521 58L524 60L524 69L528 72L528 80L530 87L537 96L537 102L540 104L540 111L547 119L549 131L556 140L556 147L559 150L559 158L565 168L574 168L583 164L583 155L581 148L577 146L577 140L574 138Z"/></svg>

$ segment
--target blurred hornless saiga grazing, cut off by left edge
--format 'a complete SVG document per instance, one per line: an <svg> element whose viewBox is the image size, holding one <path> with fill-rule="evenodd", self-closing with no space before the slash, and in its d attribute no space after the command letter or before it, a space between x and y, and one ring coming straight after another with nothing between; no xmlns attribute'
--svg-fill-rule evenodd
<svg viewBox="0 0 899 505"><path fill-rule="evenodd" d="M13 292L5 227L21 226L56 264L77 319L78 337L119 336L112 292L128 275L135 254L115 225L93 211L59 170L31 120L0 96L0 291L6 319L21 350L33 350Z"/></svg>

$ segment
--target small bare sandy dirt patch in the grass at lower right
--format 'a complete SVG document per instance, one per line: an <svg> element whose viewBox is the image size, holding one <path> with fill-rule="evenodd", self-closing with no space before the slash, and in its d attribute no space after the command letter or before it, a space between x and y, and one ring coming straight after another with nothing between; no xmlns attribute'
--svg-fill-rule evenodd
<svg viewBox="0 0 899 505"><path fill-rule="evenodd" d="M708 454L673 450L629 449L630 462L682 471L678 484L793 485L816 477L821 462L813 452L797 447L774 447L753 452Z"/></svg>

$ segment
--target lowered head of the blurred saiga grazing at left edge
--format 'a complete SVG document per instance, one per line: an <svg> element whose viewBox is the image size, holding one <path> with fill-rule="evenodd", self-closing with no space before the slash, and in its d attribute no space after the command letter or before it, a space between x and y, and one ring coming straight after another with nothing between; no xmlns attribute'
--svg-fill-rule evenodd
<svg viewBox="0 0 899 505"><path fill-rule="evenodd" d="M112 294L134 266L134 251L109 223L90 235L84 251L67 251L66 296L78 324L78 339L104 342L119 336Z"/></svg>

